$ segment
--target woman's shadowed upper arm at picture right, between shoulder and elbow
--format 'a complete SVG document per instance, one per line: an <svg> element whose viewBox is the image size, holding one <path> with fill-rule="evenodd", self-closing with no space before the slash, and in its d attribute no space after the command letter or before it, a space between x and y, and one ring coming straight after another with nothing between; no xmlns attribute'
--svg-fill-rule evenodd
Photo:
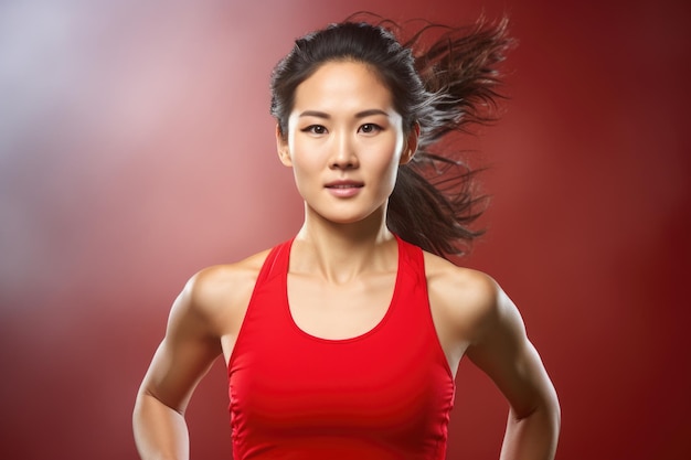
<svg viewBox="0 0 691 460"><path fill-rule="evenodd" d="M519 417L555 397L538 351L528 339L518 308L497 286L487 307L482 334L467 356L507 397Z"/></svg>

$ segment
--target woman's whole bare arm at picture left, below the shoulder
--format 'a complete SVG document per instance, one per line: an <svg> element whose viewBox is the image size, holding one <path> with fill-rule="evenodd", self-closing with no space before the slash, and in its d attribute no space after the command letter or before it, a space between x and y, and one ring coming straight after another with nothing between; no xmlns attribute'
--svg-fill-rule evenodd
<svg viewBox="0 0 691 460"><path fill-rule="evenodd" d="M176 299L166 336L137 394L132 426L142 460L187 460L190 456L184 410L194 387L222 352L212 314L219 289L200 277L205 278L195 275Z"/></svg>

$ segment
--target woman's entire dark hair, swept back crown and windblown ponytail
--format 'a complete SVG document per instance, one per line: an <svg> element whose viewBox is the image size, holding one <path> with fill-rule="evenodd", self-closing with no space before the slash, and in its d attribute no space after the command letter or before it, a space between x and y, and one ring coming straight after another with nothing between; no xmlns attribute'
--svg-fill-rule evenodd
<svg viewBox="0 0 691 460"><path fill-rule="evenodd" d="M272 74L270 111L286 136L295 92L321 65L352 60L372 66L391 90L403 128L421 127L414 161L398 169L386 224L425 250L460 255L482 233L469 224L482 213L486 199L476 196L476 171L460 161L459 152L442 150L447 135L496 119L501 97L495 90L500 83L496 64L513 42L506 19L456 29L425 23L406 41L393 30L402 28L381 19L349 19L296 40Z"/></svg>

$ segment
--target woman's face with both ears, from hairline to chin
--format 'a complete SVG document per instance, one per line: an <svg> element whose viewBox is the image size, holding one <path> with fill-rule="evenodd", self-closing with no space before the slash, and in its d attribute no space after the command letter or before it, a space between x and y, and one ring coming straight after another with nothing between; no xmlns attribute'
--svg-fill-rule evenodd
<svg viewBox="0 0 691 460"><path fill-rule="evenodd" d="M391 92L370 67L331 62L297 87L288 131L277 132L277 145L308 217L349 224L385 215L417 130L405 132Z"/></svg>

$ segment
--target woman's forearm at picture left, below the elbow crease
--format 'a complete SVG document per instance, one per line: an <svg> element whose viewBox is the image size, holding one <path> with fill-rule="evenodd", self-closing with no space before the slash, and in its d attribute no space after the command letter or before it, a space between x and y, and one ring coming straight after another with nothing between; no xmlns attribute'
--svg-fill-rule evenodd
<svg viewBox="0 0 691 460"><path fill-rule="evenodd" d="M189 434L184 417L153 396L141 393L132 415L135 443L142 460L188 460Z"/></svg>

